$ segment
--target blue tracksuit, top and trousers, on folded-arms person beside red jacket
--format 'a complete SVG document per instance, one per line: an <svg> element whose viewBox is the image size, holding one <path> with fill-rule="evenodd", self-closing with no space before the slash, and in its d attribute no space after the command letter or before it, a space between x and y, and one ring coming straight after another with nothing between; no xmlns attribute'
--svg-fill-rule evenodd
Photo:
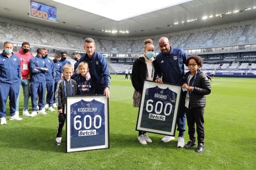
<svg viewBox="0 0 256 170"><path fill-rule="evenodd" d="M36 67L39 67L36 69ZM37 106L37 96L38 96L38 106L39 111L41 111L45 105L45 89L46 89L46 80L45 74L49 71L44 70L46 67L45 60L42 57L36 55L30 60L30 71L31 71L31 80L30 80L30 95L32 103L32 111L36 111Z"/></svg>

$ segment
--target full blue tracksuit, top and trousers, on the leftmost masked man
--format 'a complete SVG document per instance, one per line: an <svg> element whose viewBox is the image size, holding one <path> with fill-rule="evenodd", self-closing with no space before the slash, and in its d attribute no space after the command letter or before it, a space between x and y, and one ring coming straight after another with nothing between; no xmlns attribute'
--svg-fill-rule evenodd
<svg viewBox="0 0 256 170"><path fill-rule="evenodd" d="M13 53L11 57L0 54L0 117L6 116L6 101L9 96L10 115L15 114L16 101L21 83L20 60Z"/></svg>

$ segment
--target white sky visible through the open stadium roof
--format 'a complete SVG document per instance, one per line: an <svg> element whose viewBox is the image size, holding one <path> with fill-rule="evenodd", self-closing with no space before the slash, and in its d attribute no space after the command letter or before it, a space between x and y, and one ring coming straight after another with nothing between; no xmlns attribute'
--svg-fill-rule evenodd
<svg viewBox="0 0 256 170"><path fill-rule="evenodd" d="M88 1L84 1L84 0L73 0L73 1L53 0L53 1L58 2L60 4L65 4L71 7L75 7L80 10L87 11L93 14L97 14L105 18L109 18L111 20L121 21L121 20L132 18L134 16L162 10L167 7L183 4L193 0L172 0L172 1L130 0L129 2L116 1L116 0L108 0L108 1L94 0L94 1L90 1L90 5L88 5ZM97 6L97 10L95 10L95 8L93 8L92 6Z"/></svg>

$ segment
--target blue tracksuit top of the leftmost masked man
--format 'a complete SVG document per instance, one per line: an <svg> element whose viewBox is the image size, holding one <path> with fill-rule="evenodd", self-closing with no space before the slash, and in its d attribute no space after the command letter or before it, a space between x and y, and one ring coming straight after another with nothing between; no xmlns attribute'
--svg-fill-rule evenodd
<svg viewBox="0 0 256 170"><path fill-rule="evenodd" d="M21 82L20 60L13 53L11 57L0 54L0 83L15 84ZM0 87L1 88L1 87Z"/></svg>

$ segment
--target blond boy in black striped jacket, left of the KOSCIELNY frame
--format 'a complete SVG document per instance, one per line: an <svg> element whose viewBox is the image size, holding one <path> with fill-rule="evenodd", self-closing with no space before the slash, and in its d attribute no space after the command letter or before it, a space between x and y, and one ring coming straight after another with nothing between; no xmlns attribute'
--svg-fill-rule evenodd
<svg viewBox="0 0 256 170"><path fill-rule="evenodd" d="M66 97L76 95L76 81L70 79L71 75L73 74L73 66L71 64L65 64L62 68L62 73L65 78L58 82L57 90L55 91L59 118L59 124L55 140L56 146L60 146L61 144L62 128L66 120Z"/></svg>

